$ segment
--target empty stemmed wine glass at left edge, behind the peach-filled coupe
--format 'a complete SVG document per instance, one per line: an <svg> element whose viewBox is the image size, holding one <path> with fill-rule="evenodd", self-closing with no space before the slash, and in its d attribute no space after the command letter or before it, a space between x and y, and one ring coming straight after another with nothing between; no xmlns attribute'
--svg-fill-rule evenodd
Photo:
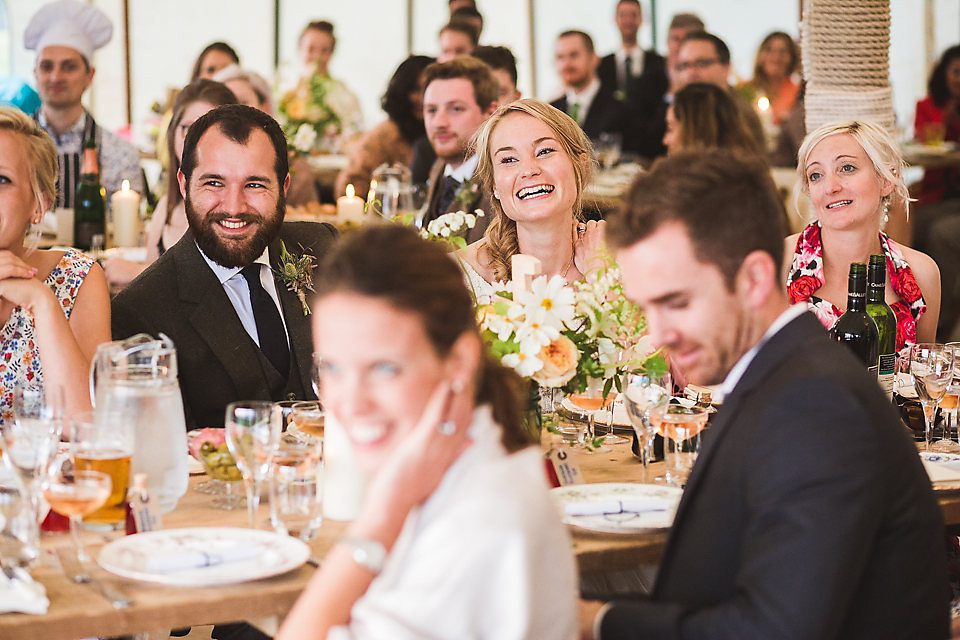
<svg viewBox="0 0 960 640"><path fill-rule="evenodd" d="M57 451L63 429L63 390L40 386L17 387L13 420L3 426L4 457L20 476L32 517L29 546L40 543L40 479Z"/></svg>

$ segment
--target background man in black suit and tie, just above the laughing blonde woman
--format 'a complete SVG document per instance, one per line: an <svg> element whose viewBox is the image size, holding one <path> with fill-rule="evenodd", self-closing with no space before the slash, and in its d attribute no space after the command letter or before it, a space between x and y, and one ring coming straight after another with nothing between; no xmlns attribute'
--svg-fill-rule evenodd
<svg viewBox="0 0 960 640"><path fill-rule="evenodd" d="M601 133L623 136L627 107L600 86L593 38L583 31L564 31L557 36L554 61L564 94L550 104L576 120L591 140L599 139Z"/></svg>

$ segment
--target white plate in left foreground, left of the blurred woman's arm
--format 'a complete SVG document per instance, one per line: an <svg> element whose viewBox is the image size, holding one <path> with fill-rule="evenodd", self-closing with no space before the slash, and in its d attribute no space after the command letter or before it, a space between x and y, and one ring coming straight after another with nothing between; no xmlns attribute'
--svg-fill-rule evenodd
<svg viewBox="0 0 960 640"><path fill-rule="evenodd" d="M175 553L216 553L236 546L259 551L245 560L197 569L151 572L144 558ZM296 569L310 557L310 548L290 536L235 527L165 529L124 536L100 550L97 563L124 578L180 587L206 587L259 580Z"/></svg>

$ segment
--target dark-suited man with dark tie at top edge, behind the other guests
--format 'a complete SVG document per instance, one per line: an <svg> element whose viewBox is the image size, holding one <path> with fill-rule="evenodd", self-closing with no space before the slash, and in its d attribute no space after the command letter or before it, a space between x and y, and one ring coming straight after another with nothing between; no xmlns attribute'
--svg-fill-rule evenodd
<svg viewBox="0 0 960 640"><path fill-rule="evenodd" d="M617 2L614 20L620 32L620 48L600 60L600 87L626 102L629 109L624 151L654 158L661 154L663 134L650 132L663 128L662 122L653 120L669 85L666 60L656 51L644 51L637 42L637 32L643 24L639 0Z"/></svg>

